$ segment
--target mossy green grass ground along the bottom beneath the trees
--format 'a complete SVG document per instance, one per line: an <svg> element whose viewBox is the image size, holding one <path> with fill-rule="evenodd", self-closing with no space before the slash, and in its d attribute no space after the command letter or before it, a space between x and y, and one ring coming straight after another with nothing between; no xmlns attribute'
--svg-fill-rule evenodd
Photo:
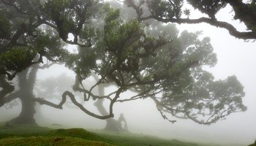
<svg viewBox="0 0 256 146"><path fill-rule="evenodd" d="M217 146L166 140L129 131L86 131L83 128L53 129L39 126L4 126L0 123L0 146Z"/></svg>

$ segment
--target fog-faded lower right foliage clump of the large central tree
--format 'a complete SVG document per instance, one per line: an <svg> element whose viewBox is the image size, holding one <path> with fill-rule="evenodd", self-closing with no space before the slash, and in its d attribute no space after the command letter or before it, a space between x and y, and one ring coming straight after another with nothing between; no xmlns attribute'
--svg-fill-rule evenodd
<svg viewBox="0 0 256 146"><path fill-rule="evenodd" d="M236 77L213 81L211 74L201 70L194 71L193 76L196 79L194 83L187 84L182 91L165 93L162 99L165 106L162 108L179 111L172 112L175 116L181 116L182 111L186 111L183 115L185 118L202 124L215 123L232 112L246 110L241 101L244 96L243 86Z"/></svg>

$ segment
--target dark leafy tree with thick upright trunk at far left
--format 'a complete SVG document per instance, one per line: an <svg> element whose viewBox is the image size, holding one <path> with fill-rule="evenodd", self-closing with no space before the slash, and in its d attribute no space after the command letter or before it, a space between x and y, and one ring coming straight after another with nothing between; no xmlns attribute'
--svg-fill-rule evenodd
<svg viewBox="0 0 256 146"><path fill-rule="evenodd" d="M89 37L86 33L91 30L83 24L94 18L94 14L91 11L85 15L85 12L89 9L97 11L99 1L69 2L0 1L0 107L16 98L22 101L22 112L12 123L34 123L33 88L37 69L49 66L48 62L61 64L67 58L72 59L72 54L64 49L64 42L90 45L91 37L86 38ZM83 7L78 8L78 4ZM67 17L69 15L76 17L71 19ZM67 40L69 33L75 36L73 41ZM14 91L14 86L7 80L17 74L20 89Z"/></svg>

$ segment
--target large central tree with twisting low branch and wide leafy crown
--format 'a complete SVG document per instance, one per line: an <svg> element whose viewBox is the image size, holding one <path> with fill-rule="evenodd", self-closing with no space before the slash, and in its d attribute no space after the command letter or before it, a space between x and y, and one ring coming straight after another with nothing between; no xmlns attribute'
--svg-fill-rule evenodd
<svg viewBox="0 0 256 146"><path fill-rule="evenodd" d="M241 101L243 87L236 77L214 81L214 77L202 69L217 61L208 38L199 41L197 34L184 31L180 37L168 42L168 37L147 37L146 28L142 28L138 20L122 23L118 18L118 10L110 11L105 18L102 42L94 46L95 52L79 54L80 61L88 63L88 58L94 61L89 65L91 72L98 74L99 81L87 90L83 88L82 80L89 77L89 72L81 71L87 71L88 66L81 66L83 63L78 61L72 68L77 74L74 90L83 92L86 100L108 99L109 114L96 115L86 110L70 92L63 94L61 103L70 96L83 112L105 119L113 117L113 104L118 101L151 97L163 118L166 118L164 112L169 112L202 124L214 123L232 112L246 110ZM116 90L104 96L91 93L97 85L105 83L113 83ZM121 99L121 93L127 90L138 94Z"/></svg>

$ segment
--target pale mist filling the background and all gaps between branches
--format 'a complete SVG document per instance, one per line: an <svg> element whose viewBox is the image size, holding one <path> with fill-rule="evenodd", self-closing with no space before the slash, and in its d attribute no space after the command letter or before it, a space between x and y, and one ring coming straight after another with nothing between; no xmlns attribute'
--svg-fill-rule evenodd
<svg viewBox="0 0 256 146"><path fill-rule="evenodd" d="M108 1L113 8L124 7L120 2ZM129 10L127 10L129 9ZM197 11L195 14L197 15ZM222 14L228 15L222 15ZM129 21L134 18L135 12L132 8L126 8L121 11L121 17ZM217 13L219 20L225 20L233 15L231 7L225 7ZM228 22L235 23L235 25L244 31L246 26L238 20L228 20ZM102 24L99 24L99 26ZM203 66L203 69L210 72L214 76L214 81L225 80L229 76L236 75L241 85L244 87L245 96L242 101L247 107L245 112L234 112L227 115L225 118L217 122L203 125L196 123L190 119L177 118L165 113L169 120L176 120L175 123L170 122L163 118L159 113L156 103L151 98L143 97L130 101L119 101L113 105L113 119L118 120L121 115L124 115L127 122L128 131L136 134L150 135L162 139L178 139L185 142L196 142L202 144L213 145L249 145L256 140L256 42L254 40L245 41L244 39L236 39L230 36L227 30L217 28L206 23L200 24L170 24L163 23L162 26L173 25L176 26L178 36L187 30L189 33L200 32L199 39L204 37L211 39L213 53L217 55L217 64L213 67ZM150 29L148 29L150 30ZM173 29L174 30L174 29ZM175 34L175 31L171 31ZM149 35L153 35L148 33ZM161 33L160 33L161 34ZM164 33L163 33L164 34ZM158 35L158 34L157 34ZM72 34L69 34L69 39L74 39ZM78 45L66 45L66 50L78 54L80 48ZM82 92L74 91L74 85L77 75L72 71L70 66L64 64L54 64L47 69L39 69L34 83L34 96L44 98L47 101L59 104L61 96L65 91L70 91L75 95L75 99L96 115L102 115L99 107L96 106L96 101L99 99L85 99ZM97 70L97 69L96 69ZM101 77L100 75L96 75ZM12 85L15 85L15 91L18 91L18 78L15 77ZM89 75L86 80L81 82L86 90L97 84L93 75ZM103 84L103 93L105 96L117 91L118 85L113 85L111 82ZM2 88L0 88L2 90ZM100 88L96 86L91 90L95 96L101 96L99 93ZM136 96L137 93L133 90L127 90L120 93L120 99L129 99L131 96ZM156 94L161 96L161 93ZM115 96L111 94L111 98ZM110 101L105 99L103 104L105 110L109 112ZM0 107L0 122L7 122L13 118L18 117L22 110L20 99L10 101L4 106ZM39 126L50 128L85 128L94 131L95 129L103 129L107 124L107 120L94 118L85 112L81 111L78 106L73 104L70 98L62 106L62 109L49 107L48 105L35 105L34 119ZM122 128L124 126L122 125Z"/></svg>

